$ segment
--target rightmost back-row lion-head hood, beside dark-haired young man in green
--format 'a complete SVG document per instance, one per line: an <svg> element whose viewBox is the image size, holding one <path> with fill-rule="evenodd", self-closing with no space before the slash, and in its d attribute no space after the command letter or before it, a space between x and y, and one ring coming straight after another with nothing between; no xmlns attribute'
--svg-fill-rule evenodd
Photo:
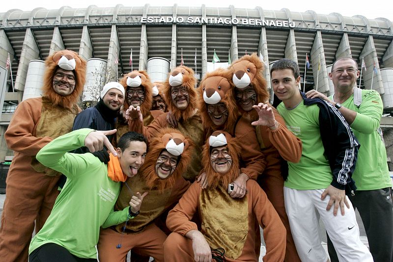
<svg viewBox="0 0 393 262"><path fill-rule="evenodd" d="M256 93L256 105L258 105L258 103L266 104L269 102L267 83L266 79L263 77L265 66L256 53L244 55L240 59L234 61L228 69L232 72L233 88L243 89L247 86L252 86ZM250 114L253 118L257 118L258 114L254 109L246 112L240 105L238 108L242 114Z"/></svg>

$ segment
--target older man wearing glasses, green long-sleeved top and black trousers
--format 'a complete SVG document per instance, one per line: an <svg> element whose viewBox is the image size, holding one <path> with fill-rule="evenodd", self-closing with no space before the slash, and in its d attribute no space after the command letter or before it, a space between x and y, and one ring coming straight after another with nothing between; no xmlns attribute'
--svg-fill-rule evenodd
<svg viewBox="0 0 393 262"><path fill-rule="evenodd" d="M332 103L350 124L361 147L352 178L358 187L349 196L354 208L359 210L374 261L393 261L393 202L392 183L386 159L386 149L379 128L383 105L375 90L356 86L359 78L357 62L350 57L337 59L332 66L335 94L329 98L311 90L308 98L319 97ZM338 261L329 241L332 262Z"/></svg>

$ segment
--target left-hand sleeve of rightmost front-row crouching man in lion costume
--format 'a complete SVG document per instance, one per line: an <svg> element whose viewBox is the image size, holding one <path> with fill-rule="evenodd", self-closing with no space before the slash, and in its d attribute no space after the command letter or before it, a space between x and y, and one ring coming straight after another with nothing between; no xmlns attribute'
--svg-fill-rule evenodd
<svg viewBox="0 0 393 262"><path fill-rule="evenodd" d="M191 230L198 230L197 224L190 220L197 213L200 190L202 189L199 183L194 182L180 198L179 203L169 211L167 227L170 231L185 236Z"/></svg>

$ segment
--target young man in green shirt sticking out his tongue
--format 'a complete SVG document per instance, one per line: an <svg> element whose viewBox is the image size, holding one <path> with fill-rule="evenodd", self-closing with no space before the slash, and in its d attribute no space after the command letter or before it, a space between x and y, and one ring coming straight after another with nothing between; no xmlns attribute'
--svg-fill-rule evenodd
<svg viewBox="0 0 393 262"><path fill-rule="evenodd" d="M43 165L67 177L51 215L29 247L30 262L97 261L95 245L100 227L117 225L135 217L146 192L132 196L130 206L114 211L120 183L137 174L146 155L146 138L125 133L113 149L106 135L112 131L80 129L59 136L37 154ZM86 146L90 152L110 150L104 164L90 153L67 153Z"/></svg>

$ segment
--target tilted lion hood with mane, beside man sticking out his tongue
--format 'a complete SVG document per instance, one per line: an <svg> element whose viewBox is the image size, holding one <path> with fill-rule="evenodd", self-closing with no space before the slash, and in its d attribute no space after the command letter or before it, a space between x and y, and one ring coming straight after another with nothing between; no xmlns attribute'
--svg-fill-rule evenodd
<svg viewBox="0 0 393 262"><path fill-rule="evenodd" d="M190 164L193 147L194 142L191 138L183 136L177 130L167 128L157 133L149 143L149 151L145 158L146 164L140 168L146 185L150 189L157 187L159 191L173 187ZM180 157L173 173L168 178L161 179L156 174L155 163L164 149Z"/></svg>

